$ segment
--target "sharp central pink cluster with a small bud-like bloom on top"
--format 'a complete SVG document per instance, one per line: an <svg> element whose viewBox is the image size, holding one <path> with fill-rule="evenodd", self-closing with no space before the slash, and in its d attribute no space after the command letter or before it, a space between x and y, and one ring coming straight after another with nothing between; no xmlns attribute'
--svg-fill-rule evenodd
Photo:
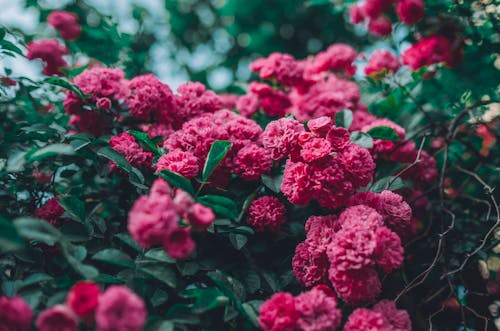
<svg viewBox="0 0 500 331"><path fill-rule="evenodd" d="M349 132L323 116L302 124L292 118L269 123L262 144L275 161L286 161L281 191L293 204L317 200L338 208L375 170L370 152L349 140Z"/></svg>

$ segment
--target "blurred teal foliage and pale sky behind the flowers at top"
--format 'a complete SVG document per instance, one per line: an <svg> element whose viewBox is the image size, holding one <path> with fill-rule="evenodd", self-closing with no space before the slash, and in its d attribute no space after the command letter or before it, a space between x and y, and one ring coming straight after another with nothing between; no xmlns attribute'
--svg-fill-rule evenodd
<svg viewBox="0 0 500 331"><path fill-rule="evenodd" d="M153 72L173 88L196 80L231 92L235 82L250 78L248 64L271 52L303 58L334 42L358 49L367 45L366 33L342 17L350 2L0 0L0 25L28 38L56 37L45 20L64 8L77 13L84 26L82 37L70 45L73 53L81 49L97 61L123 67L128 76ZM395 36L402 40L405 30L397 29ZM30 77L40 72L36 64L15 61L9 63L14 72Z"/></svg>

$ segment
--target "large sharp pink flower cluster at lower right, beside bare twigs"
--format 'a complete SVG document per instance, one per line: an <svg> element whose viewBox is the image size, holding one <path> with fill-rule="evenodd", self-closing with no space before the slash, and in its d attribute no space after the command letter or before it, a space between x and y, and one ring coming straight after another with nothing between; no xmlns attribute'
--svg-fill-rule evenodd
<svg viewBox="0 0 500 331"><path fill-rule="evenodd" d="M366 205L348 207L338 218L310 217L292 261L295 276L305 286L328 279L349 304L373 302L381 291L378 270L391 272L403 262L401 240L386 226L388 219Z"/></svg>

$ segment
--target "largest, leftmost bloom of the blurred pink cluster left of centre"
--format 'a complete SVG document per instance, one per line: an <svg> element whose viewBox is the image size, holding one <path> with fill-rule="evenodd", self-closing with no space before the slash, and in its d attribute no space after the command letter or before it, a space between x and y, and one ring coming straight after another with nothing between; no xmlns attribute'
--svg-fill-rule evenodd
<svg viewBox="0 0 500 331"><path fill-rule="evenodd" d="M158 181L164 182L163 179ZM134 202L128 213L128 230L139 245L148 248L161 244L165 235L177 226L178 220L170 195L153 191Z"/></svg>

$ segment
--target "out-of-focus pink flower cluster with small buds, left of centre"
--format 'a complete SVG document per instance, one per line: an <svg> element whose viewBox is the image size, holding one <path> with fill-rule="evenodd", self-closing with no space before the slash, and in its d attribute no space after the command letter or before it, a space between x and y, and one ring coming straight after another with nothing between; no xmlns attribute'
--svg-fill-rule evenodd
<svg viewBox="0 0 500 331"><path fill-rule="evenodd" d="M150 194L139 197L129 211L128 230L142 247L161 244L171 257L182 259L195 248L191 230L205 230L214 218L210 208L180 189L174 194L167 182L157 179Z"/></svg>

